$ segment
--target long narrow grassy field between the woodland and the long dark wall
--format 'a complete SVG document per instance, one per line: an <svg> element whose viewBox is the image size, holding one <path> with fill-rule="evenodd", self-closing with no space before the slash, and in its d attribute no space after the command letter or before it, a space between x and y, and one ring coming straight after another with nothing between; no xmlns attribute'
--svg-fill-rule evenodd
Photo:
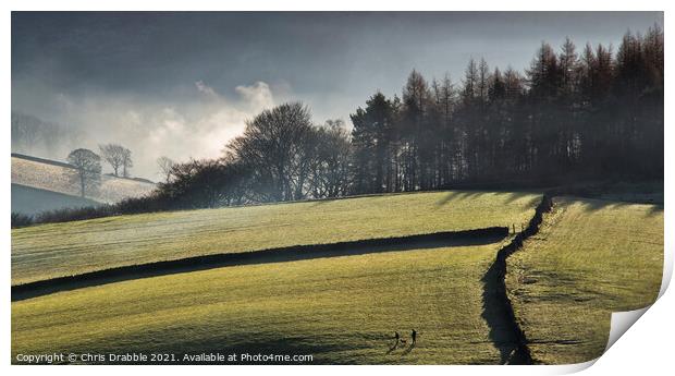
<svg viewBox="0 0 675 376"><path fill-rule="evenodd" d="M519 226L540 197L474 191L396 194L13 229L12 284L205 254Z"/></svg>

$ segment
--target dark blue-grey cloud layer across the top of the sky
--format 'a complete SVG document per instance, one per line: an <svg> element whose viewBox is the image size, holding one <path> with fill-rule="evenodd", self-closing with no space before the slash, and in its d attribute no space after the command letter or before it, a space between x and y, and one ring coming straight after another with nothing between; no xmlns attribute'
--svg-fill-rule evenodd
<svg viewBox="0 0 675 376"><path fill-rule="evenodd" d="M521 65L540 40L612 43L661 20L658 13L15 12L12 74L38 74L66 90L155 94L195 80L232 86L283 78L312 92L340 85L354 66L424 64L442 74L456 70L444 65L452 54Z"/></svg>

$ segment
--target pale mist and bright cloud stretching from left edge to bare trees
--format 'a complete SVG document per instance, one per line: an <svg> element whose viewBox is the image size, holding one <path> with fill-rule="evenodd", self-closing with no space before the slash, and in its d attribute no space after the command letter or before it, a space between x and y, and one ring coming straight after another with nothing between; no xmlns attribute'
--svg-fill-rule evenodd
<svg viewBox="0 0 675 376"><path fill-rule="evenodd" d="M256 82L225 94L196 81L180 101L111 94L84 99L52 96L53 109L41 119L13 109L12 153L64 160L75 148L99 153L100 144L121 144L132 150L133 177L159 181L157 158L161 156L175 161L221 157L226 142L244 131L247 119L280 100L272 89ZM103 163L103 172L112 171Z"/></svg>

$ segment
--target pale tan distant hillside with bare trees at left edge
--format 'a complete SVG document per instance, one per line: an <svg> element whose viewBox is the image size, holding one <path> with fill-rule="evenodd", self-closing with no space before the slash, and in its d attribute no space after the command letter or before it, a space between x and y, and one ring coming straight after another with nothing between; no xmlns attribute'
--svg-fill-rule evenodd
<svg viewBox="0 0 675 376"><path fill-rule="evenodd" d="M64 162L12 154L12 184L78 196L78 187L69 182L70 169ZM99 203L114 203L126 197L143 196L154 189L155 184L151 183L102 175L98 192L87 195L86 198ZM12 206L15 211L25 213L23 209Z"/></svg>

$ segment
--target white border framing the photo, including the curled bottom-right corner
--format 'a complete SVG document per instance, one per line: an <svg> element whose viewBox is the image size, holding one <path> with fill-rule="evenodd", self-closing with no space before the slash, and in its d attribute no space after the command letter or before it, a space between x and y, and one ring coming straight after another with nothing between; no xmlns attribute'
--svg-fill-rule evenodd
<svg viewBox="0 0 675 376"><path fill-rule="evenodd" d="M668 29L668 25L671 16L670 11L673 5L672 2L668 3L666 1L649 1L642 0L639 2L616 2L616 1L608 1L605 3L601 2L591 2L588 0L566 0L565 2L542 2L542 1L525 1L525 0L512 0L512 1L496 1L496 0L486 0L486 1L428 1L428 0L416 0L416 1L386 1L386 2L367 2L364 0L342 0L342 1L333 1L333 2L318 2L318 1L297 1L297 0L286 0L286 1L237 1L230 3L216 3L213 1L206 0L191 0L191 1L176 1L176 0L164 0L164 1L139 1L139 0L116 0L116 1L82 1L82 0L61 0L61 1L47 1L47 0L35 0L35 1L5 1L0 5L3 8L3 12L0 19L0 25L3 27L3 38L2 38L2 73L4 78L4 87L5 90L2 92L2 108L3 116L5 119L5 125L2 129L2 137L1 144L3 147L3 151L5 155L9 155L11 150L10 145L10 126L7 124L7 120L10 119L11 112L11 69L10 69L10 51L11 51L11 10L60 10L60 11L69 11L69 10L135 10L135 11L147 11L147 10L162 10L162 11L196 11L196 10L268 10L268 11L290 11L290 10L316 10L316 11L336 11L336 10L359 10L359 11L383 11L383 10L396 10L396 11L433 11L433 10L452 10L452 11L555 11L555 10L584 10L584 11L666 11L665 20L664 20L664 29ZM667 38L666 38L667 39ZM666 64L670 61L673 61L671 49L666 47ZM666 68L666 72L671 72L671 68ZM666 73L666 87L673 87L672 76ZM666 90L666 118L665 124L672 123L672 116L668 113L668 108L672 102L670 101L671 97ZM674 142L673 131L671 126L665 126L665 141ZM665 148L665 159L667 161L675 160L675 148L666 147ZM2 361L2 367L9 367L9 354L10 354L10 344L11 344L11 310L10 310L10 257L9 253L11 250L11 236L10 236L10 158L5 158L2 163L0 163L2 168L2 182L0 182L0 186L2 186L3 195L1 197L2 207L0 207L0 213L4 213L2 216L2 221L0 223L0 228L3 229L3 235L1 239L2 250L4 250L5 255L1 257L2 270L5 274L5 283L2 283L2 302L3 310L1 311L2 315L2 332L1 338L1 354L5 356ZM670 163L666 163L666 177L665 177L665 191L666 197L671 197L673 193L675 193L675 187L673 186L673 182L671 177L673 175L673 167ZM658 372L672 369L672 339L675 338L675 331L673 329L673 313L675 312L675 298L672 291L666 291L666 287L670 282L670 276L672 276L673 270L673 221L668 215L670 210L670 202L666 199L665 202L665 252L666 252L666 263L664 265L664 283L661 290L661 299L645 313L642 319L638 320L633 328L630 328L623 339L618 340L616 344L614 344L605 355L601 356L597 361L597 365L590 367L586 371L588 374L592 375L609 375L609 374L637 374L647 372ZM446 376L449 373L458 374L458 375L493 375L499 373L500 375L539 375L539 374L564 374L569 372L576 372L588 367L589 365L596 362L589 362L587 364L573 365L573 366L424 366L424 367L414 367L414 366L369 366L369 367L357 367L357 366L343 366L343 367L334 367L334 366L200 366L197 368L200 374L240 374L240 373L272 373L272 374L294 374L294 375L315 375L317 373L323 375L340 375L343 376L345 373L356 373L356 374L365 374L365 373L386 373L389 375L406 375L410 373L425 373L429 375L443 375ZM120 372L124 373L163 373L168 375L181 375L186 368L181 367L168 367L168 366L144 366L144 367L130 367L124 366L125 368L120 368L120 366L99 366L95 368L97 374L101 375L118 375ZM3 369L5 374L12 373L13 375L21 374L36 374L49 372L50 374L56 375L65 375L68 374L90 374L94 369L90 367L82 366L82 367L49 367L49 368L38 368L36 366L13 366L10 369Z"/></svg>

